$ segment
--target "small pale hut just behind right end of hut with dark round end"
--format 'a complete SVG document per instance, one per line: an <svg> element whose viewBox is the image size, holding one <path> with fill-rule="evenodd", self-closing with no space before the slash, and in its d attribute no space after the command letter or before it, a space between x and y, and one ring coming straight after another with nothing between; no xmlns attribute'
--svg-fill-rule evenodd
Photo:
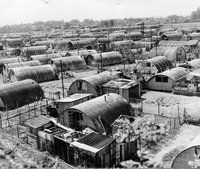
<svg viewBox="0 0 200 169"><path fill-rule="evenodd" d="M112 50L120 51L123 48L133 49L136 48L134 41L132 40L123 40L123 41L115 41L110 43L110 48Z"/></svg>

